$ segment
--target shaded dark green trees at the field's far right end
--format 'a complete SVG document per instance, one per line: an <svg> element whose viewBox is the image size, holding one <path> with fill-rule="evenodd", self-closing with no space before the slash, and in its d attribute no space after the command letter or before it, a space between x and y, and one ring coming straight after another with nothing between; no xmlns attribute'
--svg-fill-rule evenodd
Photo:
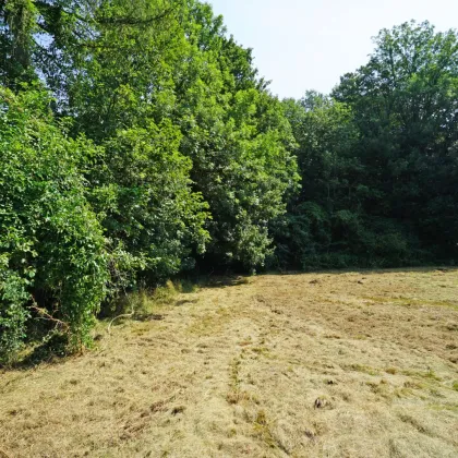
<svg viewBox="0 0 458 458"><path fill-rule="evenodd" d="M382 31L332 96L285 100L302 191L277 227L300 268L401 266L458 255L458 37Z"/></svg>

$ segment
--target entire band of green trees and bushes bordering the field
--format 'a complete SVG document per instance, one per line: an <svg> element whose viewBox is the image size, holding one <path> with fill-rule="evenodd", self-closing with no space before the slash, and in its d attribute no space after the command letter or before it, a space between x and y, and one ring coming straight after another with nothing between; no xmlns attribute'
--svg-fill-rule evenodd
<svg viewBox="0 0 458 458"><path fill-rule="evenodd" d="M454 260L457 35L376 45L279 101L197 0L0 2L0 360L196 266Z"/></svg>

